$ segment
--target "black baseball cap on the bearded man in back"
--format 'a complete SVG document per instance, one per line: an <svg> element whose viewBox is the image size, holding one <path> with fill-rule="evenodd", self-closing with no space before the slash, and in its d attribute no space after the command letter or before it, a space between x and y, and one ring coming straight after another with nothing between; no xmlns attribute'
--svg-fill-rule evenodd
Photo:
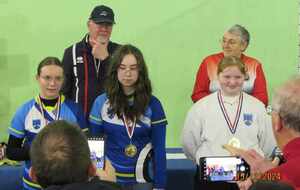
<svg viewBox="0 0 300 190"><path fill-rule="evenodd" d="M96 6L90 15L90 20L98 23L110 23L115 24L115 14L114 11L105 5Z"/></svg>

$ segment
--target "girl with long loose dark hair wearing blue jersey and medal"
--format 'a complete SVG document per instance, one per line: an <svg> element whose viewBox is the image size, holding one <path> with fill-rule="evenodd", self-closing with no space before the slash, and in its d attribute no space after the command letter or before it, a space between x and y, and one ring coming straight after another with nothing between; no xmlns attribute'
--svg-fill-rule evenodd
<svg viewBox="0 0 300 190"><path fill-rule="evenodd" d="M164 189L167 120L152 95L138 48L124 45L117 50L105 90L95 100L89 119L92 134L106 136L106 156L116 170L117 183L124 190Z"/></svg>

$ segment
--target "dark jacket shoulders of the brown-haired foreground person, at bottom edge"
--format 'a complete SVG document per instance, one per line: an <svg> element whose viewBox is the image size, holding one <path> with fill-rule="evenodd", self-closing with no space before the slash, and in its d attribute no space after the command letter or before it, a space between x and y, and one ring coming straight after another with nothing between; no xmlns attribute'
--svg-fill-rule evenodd
<svg viewBox="0 0 300 190"><path fill-rule="evenodd" d="M68 185L53 185L47 187L45 190L121 190L121 187L116 183L93 178L89 182L72 183Z"/></svg>

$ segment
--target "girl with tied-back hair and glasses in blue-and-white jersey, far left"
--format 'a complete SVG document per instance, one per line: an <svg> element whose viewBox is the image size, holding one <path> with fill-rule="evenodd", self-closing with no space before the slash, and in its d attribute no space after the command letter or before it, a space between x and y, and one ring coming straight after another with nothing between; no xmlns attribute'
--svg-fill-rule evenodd
<svg viewBox="0 0 300 190"><path fill-rule="evenodd" d="M36 75L40 87L39 95L17 110L8 128L6 156L12 160L25 161L24 189L40 189L29 177L29 149L34 137L45 125L54 120L67 120L79 125L83 130L86 129L83 112L77 104L60 95L63 79L63 68L59 59L43 59L38 65Z"/></svg>

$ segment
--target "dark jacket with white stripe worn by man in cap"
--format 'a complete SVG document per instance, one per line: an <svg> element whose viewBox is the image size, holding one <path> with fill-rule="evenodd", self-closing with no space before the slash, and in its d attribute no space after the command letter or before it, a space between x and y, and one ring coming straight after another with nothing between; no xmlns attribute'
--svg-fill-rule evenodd
<svg viewBox="0 0 300 190"><path fill-rule="evenodd" d="M95 98L104 91L104 81L111 55L120 46L109 42L109 56L100 61L99 72L97 73L95 62L99 63L99 60L94 59L88 38L89 36L86 35L82 41L68 47L62 60L65 74L62 93L66 98L80 104L86 119Z"/></svg>

